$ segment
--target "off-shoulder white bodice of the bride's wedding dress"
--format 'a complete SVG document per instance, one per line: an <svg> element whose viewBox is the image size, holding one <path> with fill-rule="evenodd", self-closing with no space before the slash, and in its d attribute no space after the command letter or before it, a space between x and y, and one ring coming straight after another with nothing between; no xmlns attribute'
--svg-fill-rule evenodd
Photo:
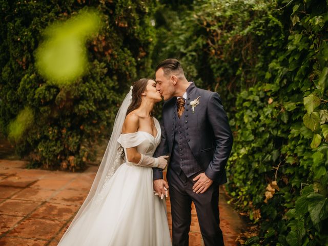
<svg viewBox="0 0 328 246"><path fill-rule="evenodd" d="M127 148L137 147L140 154L153 156L160 142L161 130L158 120L154 118L157 134L154 137L152 134L145 131L137 131L133 133L121 134L117 141L123 147L125 156L127 156ZM126 161L128 162L128 161Z"/></svg>

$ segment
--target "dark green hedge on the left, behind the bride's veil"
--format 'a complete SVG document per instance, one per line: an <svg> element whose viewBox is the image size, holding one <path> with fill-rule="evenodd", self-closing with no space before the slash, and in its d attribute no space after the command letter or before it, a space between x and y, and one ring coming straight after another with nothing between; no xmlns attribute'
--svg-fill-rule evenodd
<svg viewBox="0 0 328 246"><path fill-rule="evenodd" d="M19 112L32 112L34 120L24 127L24 137L12 140L34 166L83 169L94 145L104 136L108 139L122 94L149 72L154 2L85 2L0 1L0 130L8 135ZM43 30L86 7L104 14L103 29L87 44L90 65L72 84L54 85L35 68ZM11 126L19 133L22 127L15 124Z"/></svg>

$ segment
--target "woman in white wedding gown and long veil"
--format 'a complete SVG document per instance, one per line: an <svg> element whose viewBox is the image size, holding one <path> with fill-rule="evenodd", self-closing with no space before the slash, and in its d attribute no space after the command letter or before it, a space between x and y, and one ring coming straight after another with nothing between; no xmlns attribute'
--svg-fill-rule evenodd
<svg viewBox="0 0 328 246"><path fill-rule="evenodd" d="M153 192L152 168L164 169L168 157L152 157L161 136L151 116L158 101L154 80L131 87L90 192L58 245L172 245L165 199Z"/></svg>

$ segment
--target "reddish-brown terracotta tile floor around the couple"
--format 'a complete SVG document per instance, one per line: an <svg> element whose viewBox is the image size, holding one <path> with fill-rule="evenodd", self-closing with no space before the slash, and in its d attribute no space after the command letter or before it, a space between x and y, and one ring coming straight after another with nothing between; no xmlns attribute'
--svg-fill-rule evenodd
<svg viewBox="0 0 328 246"><path fill-rule="evenodd" d="M0 245L57 245L88 195L96 167L84 173L24 169L26 163L0 160ZM172 234L170 200L168 220ZM244 226L220 190L220 227L226 246ZM192 208L190 246L204 245L195 207Z"/></svg>

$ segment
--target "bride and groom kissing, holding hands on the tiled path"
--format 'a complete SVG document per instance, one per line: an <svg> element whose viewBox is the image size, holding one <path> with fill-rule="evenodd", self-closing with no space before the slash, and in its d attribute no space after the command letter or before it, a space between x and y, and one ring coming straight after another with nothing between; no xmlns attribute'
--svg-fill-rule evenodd
<svg viewBox="0 0 328 246"><path fill-rule="evenodd" d="M227 182L233 136L221 98L188 81L177 59L155 72L122 102L90 192L58 245L185 246L192 202L204 244L224 245L219 185ZM162 97L160 124L152 110Z"/></svg>

